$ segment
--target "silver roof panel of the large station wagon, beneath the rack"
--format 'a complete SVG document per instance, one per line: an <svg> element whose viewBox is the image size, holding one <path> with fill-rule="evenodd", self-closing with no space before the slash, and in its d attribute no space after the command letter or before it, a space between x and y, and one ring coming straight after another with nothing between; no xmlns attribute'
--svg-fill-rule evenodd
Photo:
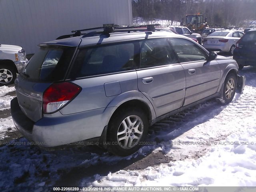
<svg viewBox="0 0 256 192"><path fill-rule="evenodd" d="M54 40L50 42L45 42L40 45L48 44L48 45L62 45L62 46L86 46L107 42L124 42L128 40L136 40L136 39L146 39L146 38L160 38L160 37L173 37L173 36L181 36L179 34L175 34L173 32L115 32L110 33L110 36L92 36L92 37L70 37L64 38L60 40ZM189 38L188 38L189 39Z"/></svg>

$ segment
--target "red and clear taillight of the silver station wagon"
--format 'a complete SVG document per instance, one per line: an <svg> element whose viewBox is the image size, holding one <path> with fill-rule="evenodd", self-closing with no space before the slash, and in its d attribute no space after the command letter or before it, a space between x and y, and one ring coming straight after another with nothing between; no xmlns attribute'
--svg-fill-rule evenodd
<svg viewBox="0 0 256 192"><path fill-rule="evenodd" d="M43 94L43 112L52 113L60 110L70 100L74 99L82 90L70 82L54 83Z"/></svg>

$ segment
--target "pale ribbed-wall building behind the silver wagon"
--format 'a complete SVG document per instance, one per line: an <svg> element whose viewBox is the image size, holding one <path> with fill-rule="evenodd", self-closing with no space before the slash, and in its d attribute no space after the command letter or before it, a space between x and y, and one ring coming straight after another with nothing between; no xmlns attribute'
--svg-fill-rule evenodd
<svg viewBox="0 0 256 192"><path fill-rule="evenodd" d="M37 45L103 24L132 24L131 0L0 0L0 44Z"/></svg>

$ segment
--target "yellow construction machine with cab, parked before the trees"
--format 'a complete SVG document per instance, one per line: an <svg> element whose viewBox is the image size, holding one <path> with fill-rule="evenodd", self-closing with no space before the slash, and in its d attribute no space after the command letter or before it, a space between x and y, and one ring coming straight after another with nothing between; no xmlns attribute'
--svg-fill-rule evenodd
<svg viewBox="0 0 256 192"><path fill-rule="evenodd" d="M186 19L185 23L183 18L180 25L186 26L187 28L189 28L195 33L202 34L204 29L209 28L207 24L207 18L205 18L205 20L203 21L203 15L200 13L185 15L185 19Z"/></svg>

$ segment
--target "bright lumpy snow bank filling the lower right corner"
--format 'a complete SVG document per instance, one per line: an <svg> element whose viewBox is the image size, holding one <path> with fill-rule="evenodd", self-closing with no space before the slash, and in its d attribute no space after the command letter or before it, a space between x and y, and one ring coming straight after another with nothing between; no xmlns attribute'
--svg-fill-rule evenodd
<svg viewBox="0 0 256 192"><path fill-rule="evenodd" d="M197 160L109 173L92 186L256 186L256 120Z"/></svg>

